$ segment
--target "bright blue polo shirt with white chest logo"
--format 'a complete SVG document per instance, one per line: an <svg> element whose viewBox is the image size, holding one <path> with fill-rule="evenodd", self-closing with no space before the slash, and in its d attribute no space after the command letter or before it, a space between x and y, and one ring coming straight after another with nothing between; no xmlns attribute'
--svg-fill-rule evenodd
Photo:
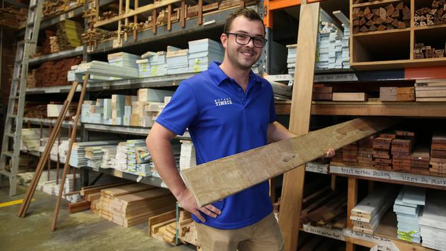
<svg viewBox="0 0 446 251"><path fill-rule="evenodd" d="M274 121L270 83L251 71L244 93L215 62L207 71L181 82L156 119L176 134L189 128L197 165L266 145L268 124ZM202 213L208 226L235 229L255 224L272 212L269 184L257 184L213 205L222 214L213 219Z"/></svg>

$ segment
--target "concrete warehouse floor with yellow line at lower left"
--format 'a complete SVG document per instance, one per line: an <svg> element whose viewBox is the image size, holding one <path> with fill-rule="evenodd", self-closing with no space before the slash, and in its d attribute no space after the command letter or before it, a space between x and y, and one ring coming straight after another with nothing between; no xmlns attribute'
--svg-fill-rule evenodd
<svg viewBox="0 0 446 251"><path fill-rule="evenodd" d="M4 182L3 184L8 182ZM19 186L16 196L9 188L0 189L0 203L23 199L26 187ZM193 246L168 246L148 237L148 224L124 228L90 211L69 214L62 203L58 229L51 232L56 197L36 191L28 216L17 217L20 204L0 208L0 250L145 250L193 251Z"/></svg>

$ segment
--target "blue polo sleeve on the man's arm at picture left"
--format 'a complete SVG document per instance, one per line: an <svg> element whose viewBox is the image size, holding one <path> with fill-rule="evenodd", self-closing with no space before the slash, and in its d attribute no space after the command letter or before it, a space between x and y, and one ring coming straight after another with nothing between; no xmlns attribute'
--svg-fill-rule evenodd
<svg viewBox="0 0 446 251"><path fill-rule="evenodd" d="M178 135L183 135L198 117L198 104L191 86L183 82L178 86L172 99L156 119L156 123Z"/></svg>

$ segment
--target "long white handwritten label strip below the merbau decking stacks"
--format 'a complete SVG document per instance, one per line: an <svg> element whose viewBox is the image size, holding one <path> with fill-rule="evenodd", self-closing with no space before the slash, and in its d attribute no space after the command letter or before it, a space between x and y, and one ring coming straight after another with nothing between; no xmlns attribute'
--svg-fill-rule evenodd
<svg viewBox="0 0 446 251"><path fill-rule="evenodd" d="M414 182L419 184L430 184L439 187L446 187L446 177L406 174L396 171L381 171L357 167L338 167L334 165L330 166L330 173L380 178L384 180L399 180L404 182Z"/></svg>

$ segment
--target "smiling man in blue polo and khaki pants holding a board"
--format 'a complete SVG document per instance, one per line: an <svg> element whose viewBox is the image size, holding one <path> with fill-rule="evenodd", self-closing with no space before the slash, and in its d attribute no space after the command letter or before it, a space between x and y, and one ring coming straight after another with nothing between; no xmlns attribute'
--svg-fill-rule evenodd
<svg viewBox="0 0 446 251"><path fill-rule="evenodd" d="M189 128L199 165L296 136L276 121L271 85L250 71L266 44L264 36L257 12L245 8L231 14L220 36L222 64L213 62L183 81L146 140L161 178L198 222L203 251L283 250L268 182L198 208L178 174L170 145Z"/></svg>

